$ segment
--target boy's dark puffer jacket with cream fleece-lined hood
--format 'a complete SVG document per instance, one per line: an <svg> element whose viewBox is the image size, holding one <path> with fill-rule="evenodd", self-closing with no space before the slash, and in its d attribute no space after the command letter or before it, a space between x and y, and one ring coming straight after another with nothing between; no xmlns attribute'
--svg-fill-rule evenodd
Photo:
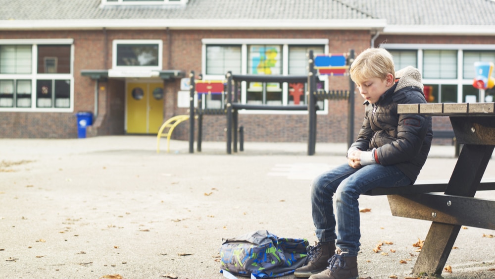
<svg viewBox="0 0 495 279"><path fill-rule="evenodd" d="M397 104L426 103L420 72L408 66L396 72L398 82L375 104L368 101L358 138L349 148L376 148L381 165L396 165L414 183L425 164L433 138L432 119L419 114L397 114Z"/></svg>

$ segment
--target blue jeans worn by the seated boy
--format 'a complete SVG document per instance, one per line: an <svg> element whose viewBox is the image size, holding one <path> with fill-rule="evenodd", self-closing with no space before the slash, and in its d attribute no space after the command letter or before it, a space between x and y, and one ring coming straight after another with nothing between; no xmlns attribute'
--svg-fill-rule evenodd
<svg viewBox="0 0 495 279"><path fill-rule="evenodd" d="M336 241L346 256L359 251L359 195L376 187L397 187L411 180L395 166L341 165L317 176L311 183L311 211L320 242ZM333 196L335 193L334 215ZM337 224L337 234L335 232Z"/></svg>

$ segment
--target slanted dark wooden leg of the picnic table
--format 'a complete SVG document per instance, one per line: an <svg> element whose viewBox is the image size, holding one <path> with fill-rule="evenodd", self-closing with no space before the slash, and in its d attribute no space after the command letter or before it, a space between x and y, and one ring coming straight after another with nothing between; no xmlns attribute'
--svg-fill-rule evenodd
<svg viewBox="0 0 495 279"><path fill-rule="evenodd" d="M492 145L464 145L445 194L474 197L493 151ZM412 272L441 274L460 227L460 225L433 222Z"/></svg>

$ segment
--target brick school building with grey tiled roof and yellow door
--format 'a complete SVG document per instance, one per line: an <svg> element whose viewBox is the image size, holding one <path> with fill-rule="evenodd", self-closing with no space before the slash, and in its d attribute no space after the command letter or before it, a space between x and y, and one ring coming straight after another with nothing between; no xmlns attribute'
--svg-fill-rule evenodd
<svg viewBox="0 0 495 279"><path fill-rule="evenodd" d="M306 53L387 48L396 68L418 67L431 102L483 102L471 84L475 61L495 61L492 0L16 0L0 6L0 137L76 138L77 112L91 112L88 136L156 134L188 114L185 79L234 74L307 75ZM270 59L267 59L270 58ZM348 76L321 76L349 90ZM202 94L203 108L223 108ZM243 104L305 105L287 83L245 82ZM354 134L362 121L356 92ZM317 112L317 142L347 141L347 100ZM205 115L203 140L224 141L226 117ZM246 141L307 140L305 111L240 111ZM449 129L448 119L435 119ZM174 138L187 140L189 124Z"/></svg>

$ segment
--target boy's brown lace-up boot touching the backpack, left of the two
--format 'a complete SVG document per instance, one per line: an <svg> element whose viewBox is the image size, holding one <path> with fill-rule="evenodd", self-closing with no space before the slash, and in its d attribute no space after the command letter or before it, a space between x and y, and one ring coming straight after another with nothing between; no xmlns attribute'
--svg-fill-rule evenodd
<svg viewBox="0 0 495 279"><path fill-rule="evenodd" d="M320 242L308 246L306 264L294 271L295 277L308 278L328 267L328 260L335 254L335 241Z"/></svg>

